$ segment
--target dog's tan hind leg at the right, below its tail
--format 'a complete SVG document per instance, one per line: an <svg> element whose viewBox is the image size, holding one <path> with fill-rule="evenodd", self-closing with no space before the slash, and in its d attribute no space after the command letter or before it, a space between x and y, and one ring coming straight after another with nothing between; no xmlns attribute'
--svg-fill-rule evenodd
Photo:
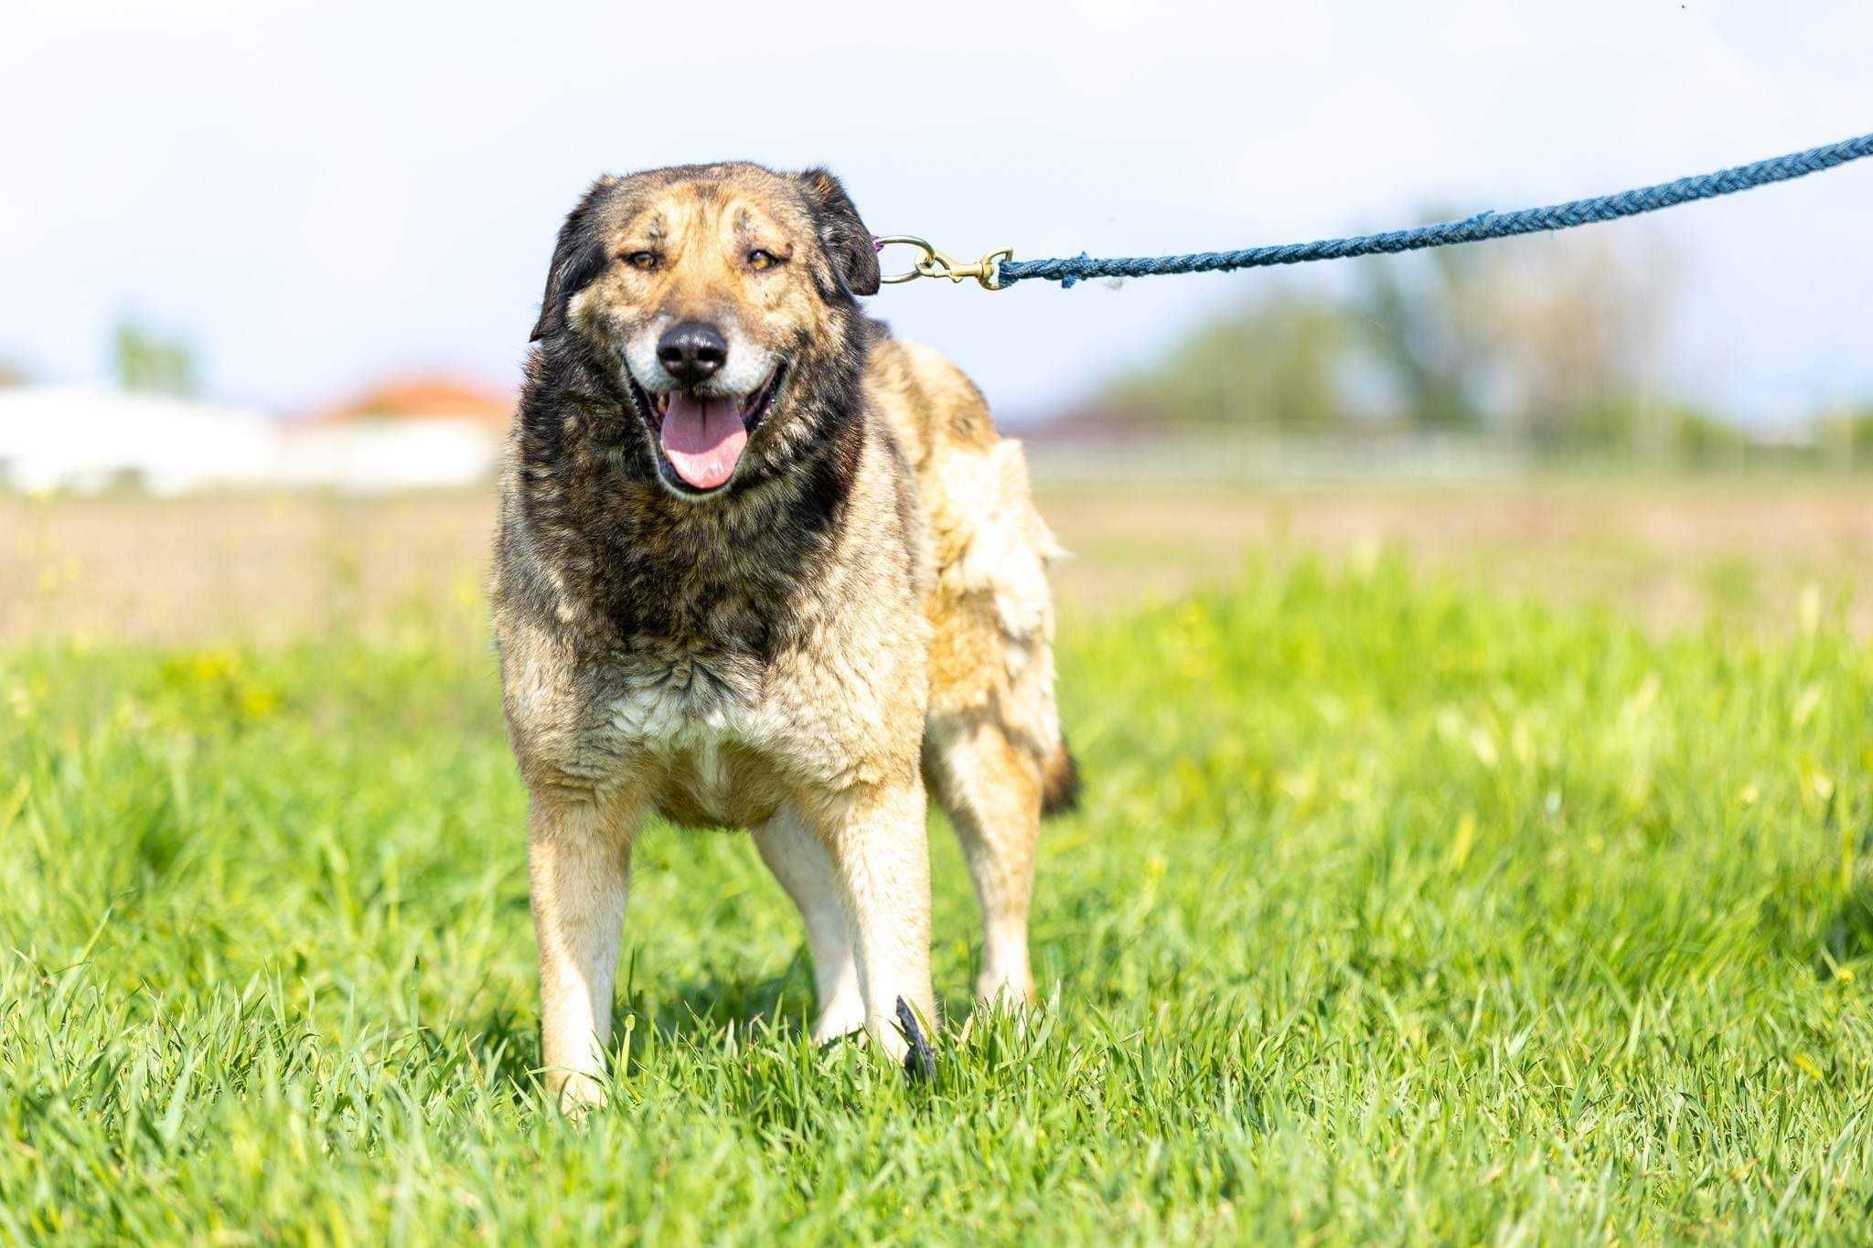
<svg viewBox="0 0 1873 1248"><path fill-rule="evenodd" d="M925 760L981 902L976 995L1032 1001L1028 904L1041 821L1040 767L989 715L933 718Z"/></svg>

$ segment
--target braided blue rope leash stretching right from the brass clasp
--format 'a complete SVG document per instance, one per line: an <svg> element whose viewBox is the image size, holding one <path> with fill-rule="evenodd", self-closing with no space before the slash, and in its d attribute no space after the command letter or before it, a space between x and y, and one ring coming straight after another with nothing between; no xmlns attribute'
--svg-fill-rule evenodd
<svg viewBox="0 0 1873 1248"><path fill-rule="evenodd" d="M1637 217L1659 208L1674 208L1691 200L1708 200L1718 195L1734 195L1751 187L1766 187L1772 181L1789 181L1806 174L1819 174L1847 161L1873 155L1873 135L1830 142L1792 155L1777 155L1755 165L1738 165L1714 174L1678 178L1661 181L1656 187L1620 191L1618 195L1600 195L1590 200L1570 200L1547 208L1523 208L1519 211L1495 213L1480 211L1463 221L1425 225L1414 230L1390 230L1386 234L1360 234L1356 238L1322 238L1313 243L1283 243L1277 247L1246 247L1244 251L1199 251L1187 256L1107 256L1092 258L1084 253L1077 256L1056 256L1051 260L1002 260L995 269L995 281L1011 286L1021 281L1043 279L1071 286L1088 277L1158 277L1159 273L1229 273L1232 269L1259 269L1270 264L1305 264L1307 260L1345 260L1347 256L1371 256L1377 253L1420 251L1423 247L1450 247L1452 243L1478 243L1485 238L1510 238L1513 234L1538 234L1541 230L1571 230L1577 225L1596 221L1616 221Z"/></svg>

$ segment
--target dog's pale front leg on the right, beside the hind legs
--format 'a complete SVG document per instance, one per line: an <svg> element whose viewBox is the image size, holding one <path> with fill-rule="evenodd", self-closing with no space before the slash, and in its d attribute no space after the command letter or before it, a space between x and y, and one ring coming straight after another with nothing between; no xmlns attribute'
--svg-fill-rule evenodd
<svg viewBox="0 0 1873 1248"><path fill-rule="evenodd" d="M908 1050L897 1001L936 1025L931 994L931 864L918 780L867 788L820 806L839 907L858 962L865 1031L895 1061Z"/></svg>

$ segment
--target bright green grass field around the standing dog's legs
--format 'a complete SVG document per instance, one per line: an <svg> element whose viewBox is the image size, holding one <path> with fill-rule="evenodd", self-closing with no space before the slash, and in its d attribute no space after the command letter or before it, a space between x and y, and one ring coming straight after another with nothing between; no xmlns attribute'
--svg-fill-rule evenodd
<svg viewBox="0 0 1873 1248"><path fill-rule="evenodd" d="M1791 612L1794 616L1794 612ZM745 838L646 833L543 1108L485 644L0 660L0 1239L1866 1241L1873 651L1300 567L1069 627L1053 1001L804 1038Z"/></svg>

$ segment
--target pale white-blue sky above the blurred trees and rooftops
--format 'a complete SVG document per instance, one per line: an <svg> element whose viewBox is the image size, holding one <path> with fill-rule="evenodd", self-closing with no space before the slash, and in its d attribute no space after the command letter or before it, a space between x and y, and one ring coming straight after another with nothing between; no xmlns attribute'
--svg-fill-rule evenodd
<svg viewBox="0 0 1873 1248"><path fill-rule="evenodd" d="M554 230L601 172L828 165L878 234L1146 254L1873 131L1860 0L11 0L0 36L0 359L96 380L135 316L197 348L208 395L281 412L401 370L511 384ZM1873 161L1592 228L1669 249L1658 378L1776 423L1873 395L1869 208ZM1352 264L869 305L1019 419Z"/></svg>

